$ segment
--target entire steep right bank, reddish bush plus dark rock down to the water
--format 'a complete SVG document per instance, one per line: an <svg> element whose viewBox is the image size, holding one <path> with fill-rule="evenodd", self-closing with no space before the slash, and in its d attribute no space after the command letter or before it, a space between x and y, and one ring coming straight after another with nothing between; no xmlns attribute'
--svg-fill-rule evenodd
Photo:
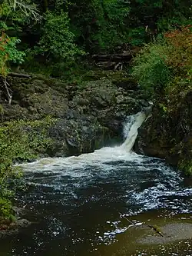
<svg viewBox="0 0 192 256"><path fill-rule="evenodd" d="M136 151L192 174L192 26L165 32L137 55L134 75L154 101Z"/></svg>

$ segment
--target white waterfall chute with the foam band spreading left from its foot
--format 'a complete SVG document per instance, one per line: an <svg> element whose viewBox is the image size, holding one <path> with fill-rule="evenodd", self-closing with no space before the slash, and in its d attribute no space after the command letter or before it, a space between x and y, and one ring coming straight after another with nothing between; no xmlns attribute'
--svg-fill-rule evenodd
<svg viewBox="0 0 192 256"><path fill-rule="evenodd" d="M22 164L27 171L49 170L54 171L59 168L68 167L68 169L84 168L87 165L102 165L106 161L139 161L141 156L132 152L134 142L137 138L137 129L140 128L143 121L148 117L147 108L138 112L136 115L130 115L124 123L124 143L120 146L104 147L95 150L92 153L71 156L68 158L42 158L38 161Z"/></svg>

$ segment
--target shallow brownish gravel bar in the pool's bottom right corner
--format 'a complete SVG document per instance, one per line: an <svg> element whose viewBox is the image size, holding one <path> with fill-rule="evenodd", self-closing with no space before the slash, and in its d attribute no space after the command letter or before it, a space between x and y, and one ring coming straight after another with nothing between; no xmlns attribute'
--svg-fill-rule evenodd
<svg viewBox="0 0 192 256"><path fill-rule="evenodd" d="M127 217L134 221L123 234L117 235L117 244L111 251L122 248L130 255L187 255L192 251L191 214L171 214L169 210L152 210L136 216ZM128 221L121 220L125 226ZM154 228L155 226L161 235Z"/></svg>

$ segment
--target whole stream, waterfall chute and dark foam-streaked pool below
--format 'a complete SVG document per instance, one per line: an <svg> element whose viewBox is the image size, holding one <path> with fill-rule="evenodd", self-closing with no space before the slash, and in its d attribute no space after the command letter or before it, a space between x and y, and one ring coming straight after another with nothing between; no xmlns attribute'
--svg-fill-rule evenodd
<svg viewBox="0 0 192 256"><path fill-rule="evenodd" d="M22 165L16 201L32 224L0 241L0 255L192 255L192 181L131 150L144 119L127 118L123 145Z"/></svg>

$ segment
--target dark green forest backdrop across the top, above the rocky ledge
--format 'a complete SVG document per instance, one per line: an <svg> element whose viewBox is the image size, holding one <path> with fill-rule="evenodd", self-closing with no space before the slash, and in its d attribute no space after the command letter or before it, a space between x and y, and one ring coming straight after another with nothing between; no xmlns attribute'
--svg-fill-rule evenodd
<svg viewBox="0 0 192 256"><path fill-rule="evenodd" d="M2 75L10 64L66 69L88 53L144 45L191 24L190 0L2 0ZM32 63L35 62L35 65Z"/></svg>

